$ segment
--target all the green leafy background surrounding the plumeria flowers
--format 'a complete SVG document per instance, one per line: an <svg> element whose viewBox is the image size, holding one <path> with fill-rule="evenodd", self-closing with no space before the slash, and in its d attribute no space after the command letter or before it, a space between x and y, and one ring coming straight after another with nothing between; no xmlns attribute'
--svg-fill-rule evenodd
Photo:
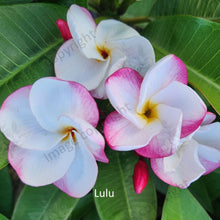
<svg viewBox="0 0 220 220"><path fill-rule="evenodd" d="M63 43L56 20L65 20L73 3L88 8L97 22L113 17L135 27L151 41L157 60L170 53L180 57L190 86L210 111L220 113L220 0L0 0L0 104L16 89L54 75ZM112 107L108 101L98 105L102 129ZM184 190L150 170L147 187L137 195L132 185L137 157L106 148L110 163L98 164L94 189L107 188L115 197L97 198L93 191L75 199L53 185L24 186L8 165L8 141L0 134L0 220L220 219L220 169Z"/></svg>

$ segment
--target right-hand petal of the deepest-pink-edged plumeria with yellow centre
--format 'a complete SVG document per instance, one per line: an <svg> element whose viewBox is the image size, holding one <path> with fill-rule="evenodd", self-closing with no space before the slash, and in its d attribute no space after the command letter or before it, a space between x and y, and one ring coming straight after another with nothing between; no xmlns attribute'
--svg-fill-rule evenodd
<svg viewBox="0 0 220 220"><path fill-rule="evenodd" d="M189 87L174 81L151 98L153 103L161 103L180 109L183 114L181 138L195 131L206 114L202 99Z"/></svg>

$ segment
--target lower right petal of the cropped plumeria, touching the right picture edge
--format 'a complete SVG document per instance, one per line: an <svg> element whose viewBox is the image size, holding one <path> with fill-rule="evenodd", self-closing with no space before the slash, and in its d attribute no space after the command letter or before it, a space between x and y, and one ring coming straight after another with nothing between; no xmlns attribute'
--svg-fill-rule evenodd
<svg viewBox="0 0 220 220"><path fill-rule="evenodd" d="M214 147L199 145L198 155L200 163L206 169L204 175L220 167L220 147L216 149Z"/></svg>

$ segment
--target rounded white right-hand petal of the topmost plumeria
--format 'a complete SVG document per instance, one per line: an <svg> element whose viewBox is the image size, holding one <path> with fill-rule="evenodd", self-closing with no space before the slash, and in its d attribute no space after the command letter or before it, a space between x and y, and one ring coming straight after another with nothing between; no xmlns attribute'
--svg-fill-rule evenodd
<svg viewBox="0 0 220 220"><path fill-rule="evenodd" d="M112 47L112 54L120 51L126 57L123 67L132 68L141 76L144 76L155 63L154 49L151 43L142 36L115 41Z"/></svg>

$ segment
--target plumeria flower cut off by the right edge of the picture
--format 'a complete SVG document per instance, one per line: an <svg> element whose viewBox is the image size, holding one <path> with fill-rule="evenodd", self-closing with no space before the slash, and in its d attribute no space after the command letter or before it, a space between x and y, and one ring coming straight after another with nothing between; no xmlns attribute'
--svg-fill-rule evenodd
<svg viewBox="0 0 220 220"><path fill-rule="evenodd" d="M151 159L152 169L160 179L186 188L200 176L220 167L220 123L207 124L210 119L215 119L211 113L197 131L181 139L173 155Z"/></svg>

